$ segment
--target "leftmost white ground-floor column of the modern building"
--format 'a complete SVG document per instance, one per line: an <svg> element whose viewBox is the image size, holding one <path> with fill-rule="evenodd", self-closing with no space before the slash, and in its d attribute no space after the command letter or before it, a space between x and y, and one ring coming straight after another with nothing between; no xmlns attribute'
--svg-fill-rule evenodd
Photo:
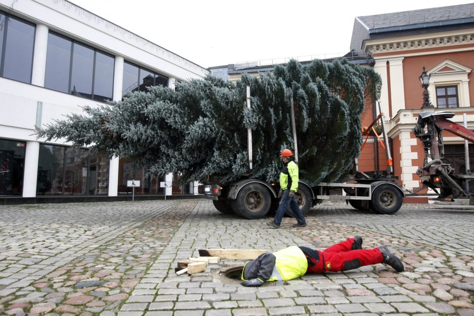
<svg viewBox="0 0 474 316"><path fill-rule="evenodd" d="M38 159L39 141L27 141L25 150L25 169L23 171L23 197L36 196Z"/></svg>

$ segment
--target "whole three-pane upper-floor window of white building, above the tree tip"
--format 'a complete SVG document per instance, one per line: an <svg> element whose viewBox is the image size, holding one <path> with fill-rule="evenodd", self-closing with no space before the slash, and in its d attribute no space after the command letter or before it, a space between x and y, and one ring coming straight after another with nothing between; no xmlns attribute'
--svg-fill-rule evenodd
<svg viewBox="0 0 474 316"><path fill-rule="evenodd" d="M112 100L113 56L49 32L44 87L100 102Z"/></svg>

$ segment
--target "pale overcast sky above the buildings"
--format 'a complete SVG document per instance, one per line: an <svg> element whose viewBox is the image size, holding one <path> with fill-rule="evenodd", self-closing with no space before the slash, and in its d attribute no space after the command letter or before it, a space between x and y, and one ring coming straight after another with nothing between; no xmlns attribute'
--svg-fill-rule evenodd
<svg viewBox="0 0 474 316"><path fill-rule="evenodd" d="M205 68L285 57L342 55L349 51L354 19L358 16L472 2L69 1Z"/></svg>

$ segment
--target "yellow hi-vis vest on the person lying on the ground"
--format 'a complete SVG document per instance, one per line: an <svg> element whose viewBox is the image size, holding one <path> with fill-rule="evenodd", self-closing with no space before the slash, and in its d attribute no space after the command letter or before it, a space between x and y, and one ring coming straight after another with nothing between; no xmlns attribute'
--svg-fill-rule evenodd
<svg viewBox="0 0 474 316"><path fill-rule="evenodd" d="M275 267L272 276L267 281L287 281L298 278L306 273L308 261L303 251L297 246L291 246L273 253Z"/></svg>

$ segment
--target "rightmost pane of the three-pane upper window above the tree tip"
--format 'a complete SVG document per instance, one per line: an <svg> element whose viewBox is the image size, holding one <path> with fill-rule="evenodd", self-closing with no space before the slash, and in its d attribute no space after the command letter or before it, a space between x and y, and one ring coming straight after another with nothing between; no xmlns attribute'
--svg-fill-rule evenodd
<svg viewBox="0 0 474 316"><path fill-rule="evenodd" d="M105 102L112 100L113 66L115 59L112 56L96 52L94 74L94 100ZM110 80L112 78L112 80Z"/></svg>

